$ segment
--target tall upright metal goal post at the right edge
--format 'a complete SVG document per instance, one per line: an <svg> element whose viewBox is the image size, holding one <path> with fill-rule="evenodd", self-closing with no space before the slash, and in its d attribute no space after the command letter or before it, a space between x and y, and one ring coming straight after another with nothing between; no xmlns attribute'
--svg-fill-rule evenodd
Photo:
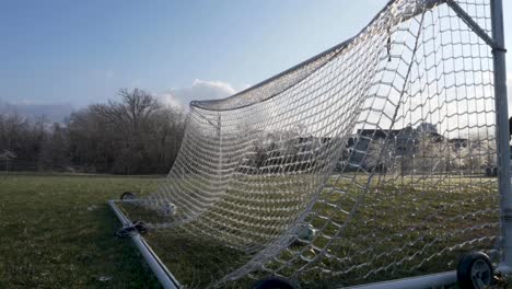
<svg viewBox="0 0 512 289"><path fill-rule="evenodd" d="M507 100L507 70L503 36L503 7L501 0L491 0L492 48L494 65L494 102L498 147L498 184L501 209L501 246L503 257L497 270L512 274L512 190L509 149L509 107Z"/></svg>

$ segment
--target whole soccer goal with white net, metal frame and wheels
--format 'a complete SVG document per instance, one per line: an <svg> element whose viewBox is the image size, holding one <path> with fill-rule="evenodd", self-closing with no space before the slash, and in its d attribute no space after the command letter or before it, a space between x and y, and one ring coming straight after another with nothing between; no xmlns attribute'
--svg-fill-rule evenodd
<svg viewBox="0 0 512 289"><path fill-rule="evenodd" d="M512 265L504 54L500 0L389 1L191 102L158 190L110 205L167 288L484 288Z"/></svg>

